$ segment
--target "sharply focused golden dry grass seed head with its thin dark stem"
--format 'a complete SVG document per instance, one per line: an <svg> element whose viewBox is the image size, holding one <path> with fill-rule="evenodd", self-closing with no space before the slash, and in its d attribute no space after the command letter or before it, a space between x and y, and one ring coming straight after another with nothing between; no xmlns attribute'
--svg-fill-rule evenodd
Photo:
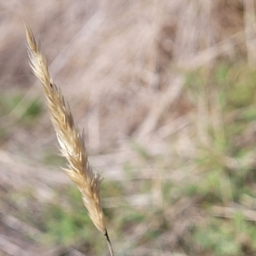
<svg viewBox="0 0 256 256"><path fill-rule="evenodd" d="M65 103L61 90L49 76L47 61L39 44L37 44L31 29L26 25L25 27L32 71L43 84L50 119L55 127L61 154L68 161L68 168L63 168L63 170L78 186L91 220L96 228L106 236L109 251L113 255L101 207L100 183L102 177L99 173L93 172L90 167L84 144L84 132L81 135L78 127L74 124L73 115Z"/></svg>

